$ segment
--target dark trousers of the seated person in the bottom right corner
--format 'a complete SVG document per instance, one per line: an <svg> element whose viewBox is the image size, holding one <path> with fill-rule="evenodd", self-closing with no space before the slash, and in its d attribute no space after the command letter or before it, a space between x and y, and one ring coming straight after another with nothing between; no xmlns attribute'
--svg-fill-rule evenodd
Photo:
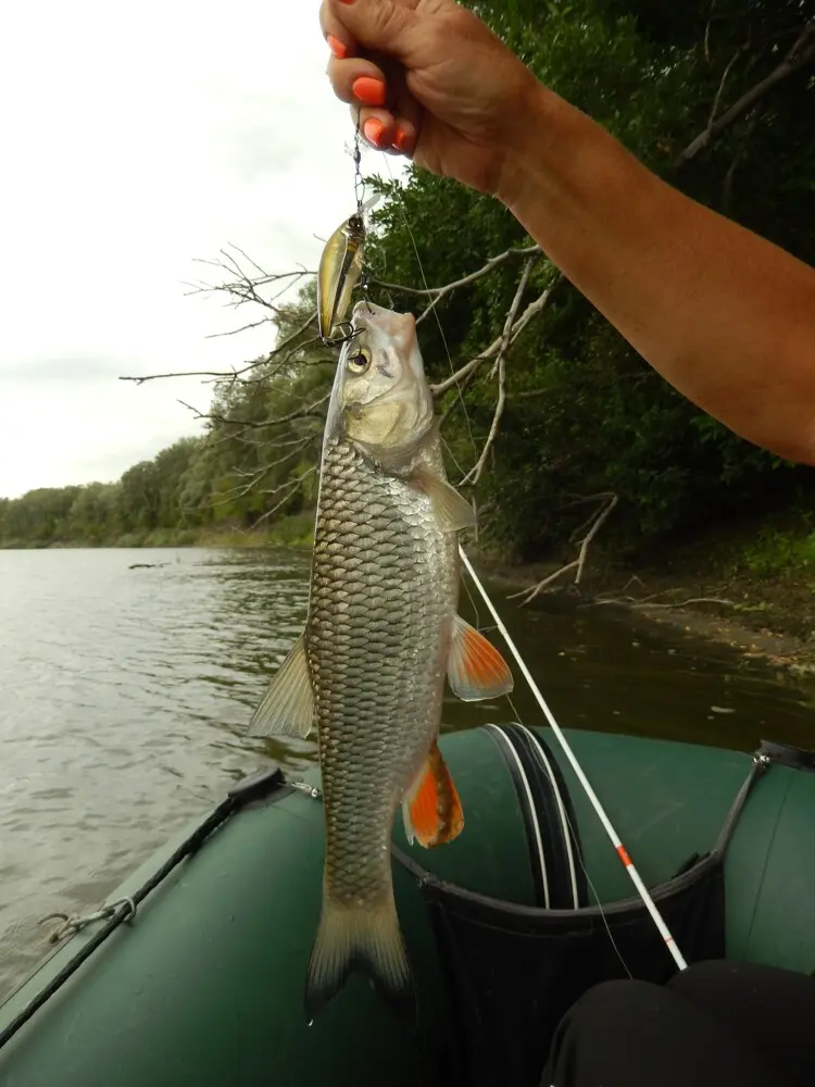
<svg viewBox="0 0 815 1087"><path fill-rule="evenodd" d="M605 982L564 1015L541 1087L813 1087L815 979L702 962Z"/></svg>

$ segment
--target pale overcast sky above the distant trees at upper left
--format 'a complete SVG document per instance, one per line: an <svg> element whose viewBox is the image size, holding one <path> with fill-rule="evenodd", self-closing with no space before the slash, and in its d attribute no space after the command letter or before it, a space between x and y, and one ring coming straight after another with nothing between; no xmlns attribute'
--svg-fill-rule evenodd
<svg viewBox="0 0 815 1087"><path fill-rule="evenodd" d="M0 496L111 480L185 434L196 379L268 341L185 297L228 243L315 267L353 210L318 0L41 0L0 36ZM368 152L364 168L378 166ZM268 334L266 334L268 335Z"/></svg>

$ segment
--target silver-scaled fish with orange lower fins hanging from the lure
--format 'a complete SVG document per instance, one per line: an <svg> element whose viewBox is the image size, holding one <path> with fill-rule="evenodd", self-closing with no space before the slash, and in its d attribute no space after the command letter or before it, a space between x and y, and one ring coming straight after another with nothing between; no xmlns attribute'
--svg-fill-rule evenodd
<svg viewBox="0 0 815 1087"><path fill-rule="evenodd" d="M304 629L249 726L300 737L316 726L326 851L310 1020L355 971L399 1010L415 1007L393 822L401 807L411 845L426 848L461 833L437 742L446 677L469 701L513 686L500 652L457 614L457 533L475 515L446 476L415 318L361 301L351 326L323 436Z"/></svg>

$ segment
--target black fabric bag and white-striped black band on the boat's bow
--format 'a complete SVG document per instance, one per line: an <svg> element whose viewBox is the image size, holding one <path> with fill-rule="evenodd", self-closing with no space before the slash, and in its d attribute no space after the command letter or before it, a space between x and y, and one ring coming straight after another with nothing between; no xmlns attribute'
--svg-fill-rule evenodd
<svg viewBox="0 0 815 1087"><path fill-rule="evenodd" d="M575 820L565 796L565 783L544 741L522 726L503 726L516 753L524 753L525 796L538 809L541 796L530 787L536 755L543 749L549 786L560 791L560 804L546 802L546 830L555 829L554 812L566 811L564 839L550 842L550 871L544 879L551 888L570 886L569 874L552 871L551 858L577 853ZM526 735L522 735L526 734ZM731 832L761 772L754 763L731 807L715 848L690 858L672 879L651 889L677 945L689 963L720 959L725 954L725 884L723 862ZM527 826L528 829L528 826ZM565 836L569 835L569 849ZM541 835L538 836L540 844ZM448 1082L467 1087L537 1087L555 1028L565 1012L591 986L611 978L631 976L664 984L676 972L653 920L641 899L609 905L602 912L586 904L585 882L577 887L575 909L541 909L487 898L438 879L411 858L394 849L419 884L430 912L438 953L450 986L455 1022L447 1055ZM626 970L627 967L627 970Z"/></svg>

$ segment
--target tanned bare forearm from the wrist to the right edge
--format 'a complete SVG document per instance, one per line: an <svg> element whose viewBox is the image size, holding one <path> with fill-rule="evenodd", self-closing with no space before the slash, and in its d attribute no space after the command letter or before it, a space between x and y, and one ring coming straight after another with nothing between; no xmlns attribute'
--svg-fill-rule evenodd
<svg viewBox="0 0 815 1087"><path fill-rule="evenodd" d="M672 385L815 463L815 270L682 196L538 86L501 199Z"/></svg>

